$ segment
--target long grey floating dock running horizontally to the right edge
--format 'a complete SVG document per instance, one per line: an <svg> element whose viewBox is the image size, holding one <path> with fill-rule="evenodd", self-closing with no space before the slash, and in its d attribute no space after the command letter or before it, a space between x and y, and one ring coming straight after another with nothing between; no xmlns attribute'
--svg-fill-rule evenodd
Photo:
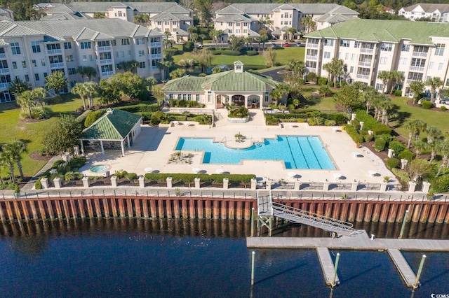
<svg viewBox="0 0 449 298"><path fill-rule="evenodd" d="M449 252L449 240L434 239L374 239L365 230L355 236L330 237L248 237L248 248L296 248L316 249L326 247L336 250L410 250L429 252Z"/></svg>

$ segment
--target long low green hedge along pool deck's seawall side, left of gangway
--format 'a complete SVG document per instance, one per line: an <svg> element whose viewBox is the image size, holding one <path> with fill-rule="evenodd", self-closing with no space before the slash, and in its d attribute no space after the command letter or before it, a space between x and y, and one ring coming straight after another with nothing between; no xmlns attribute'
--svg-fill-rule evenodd
<svg viewBox="0 0 449 298"><path fill-rule="evenodd" d="M201 174L201 173L146 173L145 179L164 182L168 177L176 181L184 181L185 183L194 183L195 178L200 178L203 182L222 183L224 178L228 178L229 182L250 183L255 175L240 174Z"/></svg>

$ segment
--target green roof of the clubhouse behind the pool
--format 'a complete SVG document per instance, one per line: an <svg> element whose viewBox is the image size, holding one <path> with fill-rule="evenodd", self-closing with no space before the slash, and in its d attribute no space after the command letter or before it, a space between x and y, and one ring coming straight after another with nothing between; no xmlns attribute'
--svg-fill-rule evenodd
<svg viewBox="0 0 449 298"><path fill-rule="evenodd" d="M204 92L213 91L257 91L264 92L267 85L276 87L278 83L269 76L243 71L235 73L223 71L205 77L183 76L169 80L162 88L165 92Z"/></svg>

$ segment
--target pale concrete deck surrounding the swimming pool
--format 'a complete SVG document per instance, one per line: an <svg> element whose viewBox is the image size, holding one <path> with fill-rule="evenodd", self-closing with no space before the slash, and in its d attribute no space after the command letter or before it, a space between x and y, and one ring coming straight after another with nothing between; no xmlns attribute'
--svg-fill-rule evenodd
<svg viewBox="0 0 449 298"><path fill-rule="evenodd" d="M257 111L252 120L246 124L231 124L225 117L220 118L220 121L215 124L215 127L198 124L161 127L142 125L142 132L135 139L133 147L126 151L126 156L122 157L119 150L106 151L105 155L101 152L89 153L88 164L80 171L87 176L100 176L101 174L93 173L88 169L94 165L107 164L111 166L110 173L125 170L138 175L145 174L145 168L152 168L155 173L194 173L193 169L199 168L200 173L216 173L217 169L221 169L229 173L255 174L264 180L283 179L291 182L298 179L302 182L324 182L326 179L333 182L336 179L334 175L336 173L341 175L339 180L342 183L351 183L354 180L381 183L384 176L391 177L390 183L396 182L394 174L387 169L384 162L368 148L356 148L349 135L340 130L341 127L309 127L306 123L292 125L287 123L283 127L266 126L263 122L262 111ZM238 133L245 136L242 143L235 141L234 135ZM244 160L241 164L202 164L203 152L192 151L185 151L192 153L192 164L168 163L180 137L213 138L232 148L247 148L252 142L263 142L263 139L273 139L279 135L320 136L336 169L286 169L281 160ZM370 171L375 172L375 175L370 175ZM295 172L296 176L290 178L290 172Z"/></svg>

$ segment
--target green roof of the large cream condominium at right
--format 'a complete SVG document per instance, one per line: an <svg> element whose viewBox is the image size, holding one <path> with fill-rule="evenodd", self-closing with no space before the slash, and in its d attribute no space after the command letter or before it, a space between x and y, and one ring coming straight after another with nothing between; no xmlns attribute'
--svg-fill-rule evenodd
<svg viewBox="0 0 449 298"><path fill-rule="evenodd" d="M307 34L306 38L354 38L360 41L398 42L433 45L430 36L449 37L449 25L436 22L394 20L348 20Z"/></svg>

